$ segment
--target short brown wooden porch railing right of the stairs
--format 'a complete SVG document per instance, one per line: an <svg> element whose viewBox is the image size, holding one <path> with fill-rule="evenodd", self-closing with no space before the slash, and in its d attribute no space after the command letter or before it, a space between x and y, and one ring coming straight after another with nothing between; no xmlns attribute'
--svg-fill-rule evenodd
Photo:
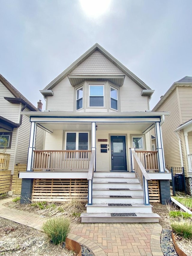
<svg viewBox="0 0 192 256"><path fill-rule="evenodd" d="M157 153L158 151L135 151L141 163L148 172L159 172Z"/></svg>

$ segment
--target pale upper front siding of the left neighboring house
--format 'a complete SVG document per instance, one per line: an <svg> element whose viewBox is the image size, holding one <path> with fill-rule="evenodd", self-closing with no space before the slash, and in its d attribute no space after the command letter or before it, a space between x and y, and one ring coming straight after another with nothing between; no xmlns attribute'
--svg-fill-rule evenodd
<svg viewBox="0 0 192 256"><path fill-rule="evenodd" d="M4 99L4 97L13 97L10 91L0 82L0 116L19 123L19 104L13 104Z"/></svg>

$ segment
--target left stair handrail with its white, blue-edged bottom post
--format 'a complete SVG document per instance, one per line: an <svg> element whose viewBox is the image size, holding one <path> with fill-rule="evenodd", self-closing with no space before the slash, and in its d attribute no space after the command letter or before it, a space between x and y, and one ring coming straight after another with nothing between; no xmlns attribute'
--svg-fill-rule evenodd
<svg viewBox="0 0 192 256"><path fill-rule="evenodd" d="M95 163L95 148L91 151L91 159L87 175L88 180L88 205L92 205L92 187L93 187L93 172Z"/></svg>

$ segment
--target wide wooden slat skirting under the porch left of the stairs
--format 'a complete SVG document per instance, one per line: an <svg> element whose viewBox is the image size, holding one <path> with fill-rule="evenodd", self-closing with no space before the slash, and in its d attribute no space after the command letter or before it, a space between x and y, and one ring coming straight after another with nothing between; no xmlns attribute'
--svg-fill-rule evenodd
<svg viewBox="0 0 192 256"><path fill-rule="evenodd" d="M87 202L87 179L34 179L32 201L64 202L77 199Z"/></svg>

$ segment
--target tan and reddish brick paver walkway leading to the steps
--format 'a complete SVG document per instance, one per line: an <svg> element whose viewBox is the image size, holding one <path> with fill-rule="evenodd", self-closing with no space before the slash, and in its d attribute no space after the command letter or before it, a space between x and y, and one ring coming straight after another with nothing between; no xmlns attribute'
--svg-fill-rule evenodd
<svg viewBox="0 0 192 256"><path fill-rule="evenodd" d="M40 230L46 218L3 204L0 217ZM88 223L73 224L69 238L85 245L95 256L163 256L158 223Z"/></svg>

